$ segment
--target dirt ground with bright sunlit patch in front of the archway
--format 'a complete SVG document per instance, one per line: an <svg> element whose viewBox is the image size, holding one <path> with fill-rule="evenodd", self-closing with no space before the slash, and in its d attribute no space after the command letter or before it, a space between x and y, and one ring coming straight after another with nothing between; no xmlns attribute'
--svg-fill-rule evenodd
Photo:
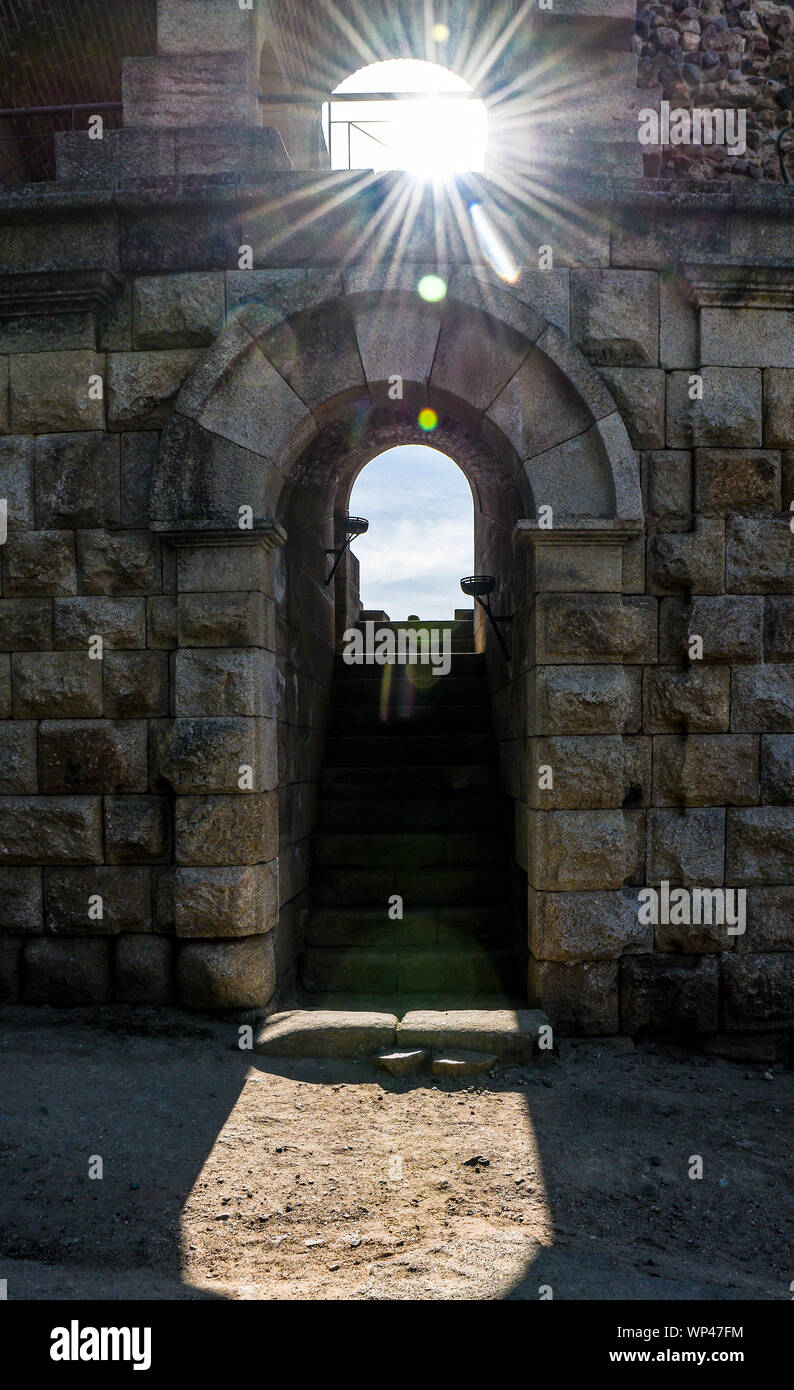
<svg viewBox="0 0 794 1390"><path fill-rule="evenodd" d="M791 1072L612 1040L395 1080L165 1011L1 1024L10 1300L791 1297Z"/></svg>

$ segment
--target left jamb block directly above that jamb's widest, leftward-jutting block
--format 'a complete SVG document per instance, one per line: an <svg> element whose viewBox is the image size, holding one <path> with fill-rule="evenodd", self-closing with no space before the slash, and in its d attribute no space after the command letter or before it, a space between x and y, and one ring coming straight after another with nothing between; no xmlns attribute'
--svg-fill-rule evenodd
<svg viewBox="0 0 794 1390"><path fill-rule="evenodd" d="M182 649L174 657L174 712L182 714L278 713L275 655L261 648Z"/></svg>

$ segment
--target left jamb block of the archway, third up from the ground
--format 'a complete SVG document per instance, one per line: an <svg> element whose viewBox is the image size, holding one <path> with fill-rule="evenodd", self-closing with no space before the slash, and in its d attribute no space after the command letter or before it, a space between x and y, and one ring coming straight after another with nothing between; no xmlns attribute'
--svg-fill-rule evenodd
<svg viewBox="0 0 794 1390"><path fill-rule="evenodd" d="M179 865L256 865L278 858L278 796L177 796Z"/></svg>

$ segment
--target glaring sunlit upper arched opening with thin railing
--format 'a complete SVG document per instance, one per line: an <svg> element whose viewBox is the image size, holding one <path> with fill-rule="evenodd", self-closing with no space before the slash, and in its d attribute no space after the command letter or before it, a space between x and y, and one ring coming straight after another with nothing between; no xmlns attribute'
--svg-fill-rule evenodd
<svg viewBox="0 0 794 1390"><path fill-rule="evenodd" d="M400 93L398 101L364 93ZM362 93L362 100L352 100ZM435 63L395 58L360 68L334 92L323 117L331 168L406 170L424 178L485 170L488 111L469 83Z"/></svg>

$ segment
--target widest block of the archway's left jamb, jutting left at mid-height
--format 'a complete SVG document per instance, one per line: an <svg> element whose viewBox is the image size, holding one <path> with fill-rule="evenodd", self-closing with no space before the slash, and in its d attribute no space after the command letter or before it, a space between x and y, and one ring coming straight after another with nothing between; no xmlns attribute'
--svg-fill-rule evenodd
<svg viewBox="0 0 794 1390"><path fill-rule="evenodd" d="M241 792L246 767L248 791L270 791L278 780L273 719L175 719L157 726L153 745L153 773L182 795Z"/></svg>

